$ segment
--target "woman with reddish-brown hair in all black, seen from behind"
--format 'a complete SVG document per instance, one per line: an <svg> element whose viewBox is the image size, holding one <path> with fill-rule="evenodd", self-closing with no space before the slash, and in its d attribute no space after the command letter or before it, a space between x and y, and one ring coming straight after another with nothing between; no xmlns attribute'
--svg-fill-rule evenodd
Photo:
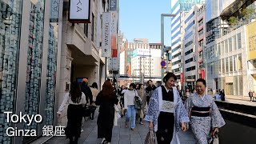
<svg viewBox="0 0 256 144"><path fill-rule="evenodd" d="M98 138L103 138L102 143L110 143L114 126L114 104L118 104L118 97L110 81L104 82L95 104L100 106L97 120Z"/></svg>

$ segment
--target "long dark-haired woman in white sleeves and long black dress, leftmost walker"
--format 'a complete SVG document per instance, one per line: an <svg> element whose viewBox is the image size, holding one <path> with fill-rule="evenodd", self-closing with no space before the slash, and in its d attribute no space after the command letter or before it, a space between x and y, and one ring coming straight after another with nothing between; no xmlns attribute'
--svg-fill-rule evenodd
<svg viewBox="0 0 256 144"><path fill-rule="evenodd" d="M67 126L65 128L66 138L70 139L70 143L78 143L82 126L82 106L86 105L86 95L82 93L78 82L72 82L70 92L64 95L62 105L58 109L58 117L62 115L66 104L67 108Z"/></svg>

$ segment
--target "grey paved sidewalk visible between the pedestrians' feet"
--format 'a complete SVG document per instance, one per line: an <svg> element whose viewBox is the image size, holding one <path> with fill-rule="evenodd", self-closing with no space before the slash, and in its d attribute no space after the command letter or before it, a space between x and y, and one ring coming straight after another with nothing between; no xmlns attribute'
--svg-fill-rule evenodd
<svg viewBox="0 0 256 144"><path fill-rule="evenodd" d="M79 138L79 144L100 144L102 139L97 138L97 118L98 109L95 111L94 120L87 120L83 126L83 132L81 133L81 138ZM144 122L144 125L138 124L136 122L135 130L130 130L130 128L125 127L125 117L118 119L118 126L114 126L112 132L112 142L111 144L143 144L148 132L148 123ZM181 144L194 144L195 140L192 133L189 131L180 132L178 134ZM69 143L69 139L66 137L53 137L50 138L44 144L58 144Z"/></svg>

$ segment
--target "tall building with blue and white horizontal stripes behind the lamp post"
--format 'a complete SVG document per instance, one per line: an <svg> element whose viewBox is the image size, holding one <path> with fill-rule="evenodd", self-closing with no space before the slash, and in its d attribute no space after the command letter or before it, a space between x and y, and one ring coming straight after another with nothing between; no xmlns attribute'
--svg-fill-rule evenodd
<svg viewBox="0 0 256 144"><path fill-rule="evenodd" d="M185 11L190 11L191 7L197 3L204 3L204 0L174 0L171 1L171 14L176 16L171 20L171 71L178 77L180 84L182 71L182 14ZM180 84L181 85L181 84Z"/></svg>

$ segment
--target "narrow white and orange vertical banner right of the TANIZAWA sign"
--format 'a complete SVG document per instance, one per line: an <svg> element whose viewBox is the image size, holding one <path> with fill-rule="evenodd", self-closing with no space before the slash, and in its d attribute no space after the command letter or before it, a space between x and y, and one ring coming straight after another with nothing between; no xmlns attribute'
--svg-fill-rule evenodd
<svg viewBox="0 0 256 144"><path fill-rule="evenodd" d="M117 48L117 12L111 13L111 49Z"/></svg>

